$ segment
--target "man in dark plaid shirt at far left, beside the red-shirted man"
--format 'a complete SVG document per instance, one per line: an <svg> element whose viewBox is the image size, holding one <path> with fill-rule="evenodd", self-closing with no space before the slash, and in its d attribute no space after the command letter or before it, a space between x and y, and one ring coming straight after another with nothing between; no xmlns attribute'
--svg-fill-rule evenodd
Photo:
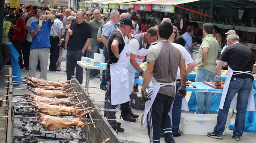
<svg viewBox="0 0 256 143"><path fill-rule="evenodd" d="M16 25L17 18L16 18L15 14L14 14L15 9L16 8L10 8L10 6L7 6L7 12L9 13L9 15L6 15L3 20L10 21L11 24ZM8 33L8 37L9 37L11 43L14 43L13 36L14 36L14 30L10 29L9 33Z"/></svg>

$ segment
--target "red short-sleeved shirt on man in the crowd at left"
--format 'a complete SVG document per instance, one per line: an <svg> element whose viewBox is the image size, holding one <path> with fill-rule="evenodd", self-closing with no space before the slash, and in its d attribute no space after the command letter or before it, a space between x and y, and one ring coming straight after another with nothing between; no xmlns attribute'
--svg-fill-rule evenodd
<svg viewBox="0 0 256 143"><path fill-rule="evenodd" d="M21 28L20 32L14 31L14 40L25 41L26 39L26 29L25 29L25 20L24 18L19 18L16 22L16 28Z"/></svg>

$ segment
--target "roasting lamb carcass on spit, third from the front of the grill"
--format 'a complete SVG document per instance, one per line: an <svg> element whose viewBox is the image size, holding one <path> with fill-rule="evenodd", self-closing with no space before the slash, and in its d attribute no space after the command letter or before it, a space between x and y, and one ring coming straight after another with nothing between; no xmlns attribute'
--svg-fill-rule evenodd
<svg viewBox="0 0 256 143"><path fill-rule="evenodd" d="M44 102L46 104L50 104L50 105L59 105L59 104L64 104L64 105L75 105L75 104L79 104L78 102L74 102L71 101L71 99L75 99L76 97L82 95L83 93L77 95L77 96L72 96L72 97L68 97L68 98L48 98L48 97L41 97L41 96L37 96L37 95L31 95L29 93L25 93L25 95L28 95L29 97L26 97L26 99L31 100L31 101L40 101L40 102Z"/></svg>

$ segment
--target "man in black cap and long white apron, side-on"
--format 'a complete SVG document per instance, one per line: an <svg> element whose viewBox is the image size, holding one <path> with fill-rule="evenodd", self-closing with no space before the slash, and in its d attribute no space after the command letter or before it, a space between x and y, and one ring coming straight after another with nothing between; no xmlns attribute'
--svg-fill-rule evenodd
<svg viewBox="0 0 256 143"><path fill-rule="evenodd" d="M123 18L119 28L109 36L107 47L109 59L106 68L106 97L110 101L110 103L107 102L108 109L115 109L117 105L130 101L128 80L130 50L129 45L124 42L124 37L131 28L135 29L132 26L132 20ZM108 111L107 118L116 119L116 113ZM121 123L117 123L116 120L108 120L108 122L117 132L124 132L120 127Z"/></svg>

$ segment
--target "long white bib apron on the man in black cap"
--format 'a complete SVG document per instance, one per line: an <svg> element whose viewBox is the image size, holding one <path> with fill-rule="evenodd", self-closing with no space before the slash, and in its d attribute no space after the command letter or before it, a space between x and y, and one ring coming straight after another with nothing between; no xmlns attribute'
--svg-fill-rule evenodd
<svg viewBox="0 0 256 143"><path fill-rule="evenodd" d="M129 64L130 49L129 45L125 44L123 51L119 54L117 63L110 64L111 105L118 105L130 101L127 70Z"/></svg>

